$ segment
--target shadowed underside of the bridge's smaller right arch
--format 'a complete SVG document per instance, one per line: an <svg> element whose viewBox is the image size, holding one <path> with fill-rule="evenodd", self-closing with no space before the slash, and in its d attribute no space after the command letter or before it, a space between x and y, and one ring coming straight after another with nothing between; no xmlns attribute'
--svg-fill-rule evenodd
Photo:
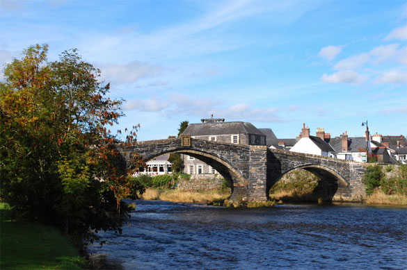
<svg viewBox="0 0 407 270"><path fill-rule="evenodd" d="M335 196L338 189L349 187L349 183L345 180L344 176L339 174L337 171L330 169L330 167L326 167L321 164L302 164L301 166L284 171L280 177L272 183L271 187L275 185L283 176L298 169L309 171L320 179L317 187L314 188L312 193L317 194L317 196L325 202L332 201L333 196ZM270 189L267 191L267 194L269 194Z"/></svg>

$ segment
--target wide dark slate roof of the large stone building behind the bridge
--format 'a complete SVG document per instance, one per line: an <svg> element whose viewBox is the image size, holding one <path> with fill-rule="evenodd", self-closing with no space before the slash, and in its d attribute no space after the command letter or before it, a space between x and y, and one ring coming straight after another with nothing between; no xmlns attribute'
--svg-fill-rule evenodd
<svg viewBox="0 0 407 270"><path fill-rule="evenodd" d="M191 136L230 134L254 134L264 136L264 134L252 124L241 121L189 124L182 134Z"/></svg>

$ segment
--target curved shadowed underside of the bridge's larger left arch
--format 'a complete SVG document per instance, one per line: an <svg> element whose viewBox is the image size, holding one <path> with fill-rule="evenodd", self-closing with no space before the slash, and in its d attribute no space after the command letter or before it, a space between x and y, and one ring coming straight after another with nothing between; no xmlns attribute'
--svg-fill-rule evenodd
<svg viewBox="0 0 407 270"><path fill-rule="evenodd" d="M170 153L180 153L184 155L190 155L191 157L197 158L198 160L201 160L202 162L205 162L212 168L216 169L216 171L218 171L218 174L221 174L221 176L223 176L223 178L225 178L225 180L227 180L228 183L230 184L232 194L234 187L248 186L248 181L244 178L244 176L241 175L241 173L237 169L234 169L230 162L204 151L198 151L193 149L171 149L154 155L149 155L144 158L145 161L147 161L157 158L160 155L166 155Z"/></svg>

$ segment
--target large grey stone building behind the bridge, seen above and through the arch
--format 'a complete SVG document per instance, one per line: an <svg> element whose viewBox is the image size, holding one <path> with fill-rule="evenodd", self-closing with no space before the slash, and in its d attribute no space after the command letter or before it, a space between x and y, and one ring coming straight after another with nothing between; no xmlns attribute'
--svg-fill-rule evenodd
<svg viewBox="0 0 407 270"><path fill-rule="evenodd" d="M266 135L253 124L242 121L225 122L225 119L201 119L201 123L190 124L182 134L191 135L191 138L214 142L266 145ZM189 155L183 155L182 158L184 159L185 174L191 174L193 178L214 178L217 176L216 170L205 162Z"/></svg>

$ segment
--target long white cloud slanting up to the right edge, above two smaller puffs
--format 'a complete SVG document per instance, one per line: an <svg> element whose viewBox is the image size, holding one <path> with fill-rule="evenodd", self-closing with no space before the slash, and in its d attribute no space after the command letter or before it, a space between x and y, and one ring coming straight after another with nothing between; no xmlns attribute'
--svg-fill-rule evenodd
<svg viewBox="0 0 407 270"><path fill-rule="evenodd" d="M334 69L356 69L366 64L376 65L381 62L404 62L407 54L406 47L398 48L399 44L378 46L367 53L360 53L340 60Z"/></svg>

